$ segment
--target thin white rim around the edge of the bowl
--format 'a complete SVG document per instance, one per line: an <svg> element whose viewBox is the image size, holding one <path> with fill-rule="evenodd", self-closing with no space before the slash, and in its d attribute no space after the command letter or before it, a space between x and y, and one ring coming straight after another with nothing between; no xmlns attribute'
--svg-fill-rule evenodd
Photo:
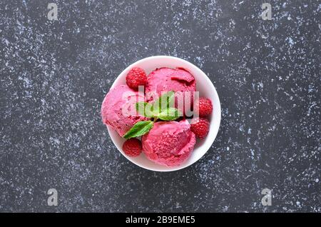
<svg viewBox="0 0 321 227"><path fill-rule="evenodd" d="M116 86L116 84L118 84L118 81L121 80L121 76L126 72L128 71L129 69L131 69L133 66L137 65L137 64L140 64L141 62L143 61L148 61L148 60L151 60L151 59L175 59L175 60L178 60L178 61L183 61L185 64L189 64L191 67L193 67L196 71L198 71L198 74L203 74L203 78L206 80L206 82L212 87L211 89L213 90L214 92L214 96L216 96L216 98L218 99L218 106L215 106L216 109L218 109L218 116L215 116L215 119L216 121L218 121L218 126L214 128L214 131L213 131L213 138L210 142L206 143L208 144L207 146L205 146L205 149L206 151L203 153L202 156L200 156L198 159L195 159L195 161L189 163L188 165L180 165L180 166L175 166L175 167L170 167L168 169L153 169L153 168L148 168L146 166L143 166L141 165L141 163L135 163L134 161L132 161L130 158L128 158L128 156L126 156L121 150L121 146L118 146L118 144L113 140L113 137L111 136L111 131L113 131L114 129L111 127L111 126L107 126L107 129L108 129L108 134L109 134L109 137L111 138L111 141L113 141L113 144L116 146L116 148L118 149L118 151L125 157L128 159L128 161L131 161L131 163L134 163L136 166L139 166L141 168L144 168L144 169L147 169L149 171L157 171L157 172L170 172L170 171L179 171L183 168L187 168L188 166L192 166L195 162L197 162L198 160L200 160L200 158L203 158L203 156L205 156L205 153L208 152L208 150L210 149L210 147L213 145L214 141L215 141L215 138L216 136L218 135L218 130L220 128L220 121L221 121L221 108L220 108L220 97L218 96L218 92L216 91L215 89L215 86L213 85L212 81L210 80L210 78L201 70L198 68L198 66L195 66L193 63L190 63L189 61L186 61L184 59L180 59L178 57L175 57L175 56L166 56L166 55L158 55L158 56L149 56L149 57L146 57L144 59L141 59L141 60L138 60L138 61L135 61L133 64L129 65L128 67L126 67L126 69L124 69L123 71L121 71L121 73L117 76L117 78L115 79L115 81L113 81L113 84L111 85L111 88L110 89L113 89L113 87ZM110 91L110 89L108 91ZM204 144L205 145L205 144Z"/></svg>

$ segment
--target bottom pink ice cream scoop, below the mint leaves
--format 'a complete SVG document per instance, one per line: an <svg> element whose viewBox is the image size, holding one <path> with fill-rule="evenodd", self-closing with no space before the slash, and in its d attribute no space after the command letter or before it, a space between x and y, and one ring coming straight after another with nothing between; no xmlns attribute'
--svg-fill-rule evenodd
<svg viewBox="0 0 321 227"><path fill-rule="evenodd" d="M179 166L195 146L195 134L188 121L160 121L142 137L148 159L163 166Z"/></svg>

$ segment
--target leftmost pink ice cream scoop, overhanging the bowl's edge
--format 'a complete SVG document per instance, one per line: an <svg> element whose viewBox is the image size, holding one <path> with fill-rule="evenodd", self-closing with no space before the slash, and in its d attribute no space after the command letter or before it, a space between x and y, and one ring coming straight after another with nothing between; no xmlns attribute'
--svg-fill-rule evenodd
<svg viewBox="0 0 321 227"><path fill-rule="evenodd" d="M146 118L136 112L136 102L144 101L143 94L133 91L127 85L118 85L111 89L103 99L101 118L103 123L113 127L123 136L138 121Z"/></svg>

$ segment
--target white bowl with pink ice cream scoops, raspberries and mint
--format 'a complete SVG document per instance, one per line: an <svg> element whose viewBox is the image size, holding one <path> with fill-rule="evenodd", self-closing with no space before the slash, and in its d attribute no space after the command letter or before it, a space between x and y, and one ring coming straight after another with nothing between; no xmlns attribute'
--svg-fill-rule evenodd
<svg viewBox="0 0 321 227"><path fill-rule="evenodd" d="M220 101L196 66L153 56L118 76L103 100L101 116L113 143L130 161L153 171L175 171L210 148L220 126Z"/></svg>

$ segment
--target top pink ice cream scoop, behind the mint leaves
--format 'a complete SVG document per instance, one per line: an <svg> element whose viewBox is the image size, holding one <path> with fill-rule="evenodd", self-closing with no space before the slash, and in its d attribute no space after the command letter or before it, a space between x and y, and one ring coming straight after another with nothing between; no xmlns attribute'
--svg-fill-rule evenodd
<svg viewBox="0 0 321 227"><path fill-rule="evenodd" d="M183 100L188 103L190 99L190 107L193 106L193 92L196 91L196 82L194 76L188 71L182 68L170 69L170 68L161 68L156 69L151 72L147 77L146 84L146 99L147 101L153 101L153 97L149 97L148 94L157 94L158 96L162 95L162 92L175 91L175 106L185 113L185 105L178 105L178 96L180 92L183 92ZM187 95L190 95L188 97ZM183 102L182 102L183 104Z"/></svg>

